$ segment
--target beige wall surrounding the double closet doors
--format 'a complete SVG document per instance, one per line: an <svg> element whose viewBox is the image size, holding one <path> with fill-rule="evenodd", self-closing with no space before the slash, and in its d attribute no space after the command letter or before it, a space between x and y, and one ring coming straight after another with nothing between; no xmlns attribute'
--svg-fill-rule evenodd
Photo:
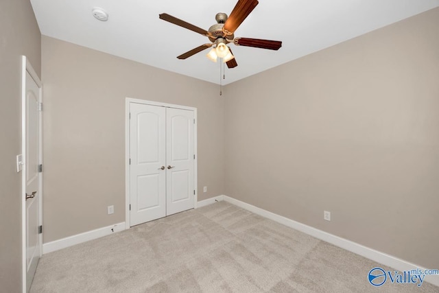
<svg viewBox="0 0 439 293"><path fill-rule="evenodd" d="M125 221L126 97L198 108L198 200L222 194L217 85L46 36L42 51L44 242Z"/></svg>

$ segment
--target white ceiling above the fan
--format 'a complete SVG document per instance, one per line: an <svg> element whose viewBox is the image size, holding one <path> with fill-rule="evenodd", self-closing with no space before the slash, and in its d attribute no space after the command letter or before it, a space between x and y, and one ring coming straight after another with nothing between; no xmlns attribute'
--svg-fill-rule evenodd
<svg viewBox="0 0 439 293"><path fill-rule="evenodd" d="M217 12L237 0L31 0L41 34L135 60L161 69L219 83L219 63L208 49L186 60L176 56L209 40L173 25L166 12L208 30ZM439 6L439 0L259 0L235 36L282 40L278 51L230 44L238 67L227 69L223 84L281 65ZM108 12L97 21L91 10Z"/></svg>

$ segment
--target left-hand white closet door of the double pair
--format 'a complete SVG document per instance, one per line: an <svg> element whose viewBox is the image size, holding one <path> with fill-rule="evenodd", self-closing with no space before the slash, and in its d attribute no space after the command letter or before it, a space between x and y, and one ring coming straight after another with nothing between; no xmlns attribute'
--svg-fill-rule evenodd
<svg viewBox="0 0 439 293"><path fill-rule="evenodd" d="M166 215L166 110L130 103L130 226Z"/></svg>

